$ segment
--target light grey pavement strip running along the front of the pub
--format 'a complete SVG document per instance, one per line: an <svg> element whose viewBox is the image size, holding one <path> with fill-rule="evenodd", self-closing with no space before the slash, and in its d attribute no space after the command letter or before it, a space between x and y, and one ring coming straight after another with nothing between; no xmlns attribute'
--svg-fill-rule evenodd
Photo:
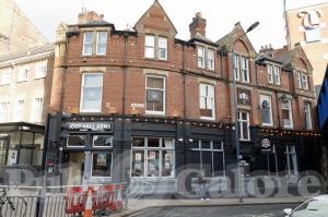
<svg viewBox="0 0 328 217"><path fill-rule="evenodd" d="M210 202L200 200L178 200L178 198L131 198L128 201L128 208L120 213L112 214L110 217L127 217L138 215L138 213L161 207L206 207L206 206L244 206L244 205L269 205L269 204L300 204L306 201L306 197L247 197L243 203L239 198L212 198Z"/></svg>

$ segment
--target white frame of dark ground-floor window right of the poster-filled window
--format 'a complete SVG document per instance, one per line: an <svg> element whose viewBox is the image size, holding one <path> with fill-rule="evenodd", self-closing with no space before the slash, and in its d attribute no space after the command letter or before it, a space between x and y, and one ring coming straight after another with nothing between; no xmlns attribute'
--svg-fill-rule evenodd
<svg viewBox="0 0 328 217"><path fill-rule="evenodd" d="M203 140L203 142L206 142L207 140ZM210 148L202 148L201 147L201 142L202 141L198 141L198 148L191 148L191 150L194 152L199 152L199 156L200 156L200 170L202 171L202 152L211 152L212 154L212 164L214 162L214 153L222 153L223 155L223 176L214 176L214 167L213 165L211 165L212 167L212 177L211 178L218 178L218 177L225 177L225 154L224 154L224 143L223 141L207 141L207 142L210 142ZM214 149L213 147L213 143L214 142L220 142L221 143L221 148L220 149Z"/></svg>

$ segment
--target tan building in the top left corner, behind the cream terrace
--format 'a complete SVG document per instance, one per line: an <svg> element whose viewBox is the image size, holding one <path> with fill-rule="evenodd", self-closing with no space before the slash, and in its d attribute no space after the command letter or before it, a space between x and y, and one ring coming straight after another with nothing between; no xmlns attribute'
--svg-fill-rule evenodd
<svg viewBox="0 0 328 217"><path fill-rule="evenodd" d="M1 0L0 14L0 56L47 44L14 0Z"/></svg>

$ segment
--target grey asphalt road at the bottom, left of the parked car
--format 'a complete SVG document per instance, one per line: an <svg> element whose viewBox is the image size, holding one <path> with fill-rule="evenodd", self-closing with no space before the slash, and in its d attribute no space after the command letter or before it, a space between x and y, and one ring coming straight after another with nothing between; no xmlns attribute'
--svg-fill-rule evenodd
<svg viewBox="0 0 328 217"><path fill-rule="evenodd" d="M130 217L284 217L282 210L295 206L296 204L164 207L147 209Z"/></svg>

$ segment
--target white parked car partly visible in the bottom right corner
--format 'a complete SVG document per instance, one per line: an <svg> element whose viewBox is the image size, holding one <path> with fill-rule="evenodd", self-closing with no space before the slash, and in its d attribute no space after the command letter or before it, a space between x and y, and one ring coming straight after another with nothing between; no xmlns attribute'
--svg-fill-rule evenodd
<svg viewBox="0 0 328 217"><path fill-rule="evenodd" d="M285 217L328 217L328 194L307 200L294 210L285 208Z"/></svg>

